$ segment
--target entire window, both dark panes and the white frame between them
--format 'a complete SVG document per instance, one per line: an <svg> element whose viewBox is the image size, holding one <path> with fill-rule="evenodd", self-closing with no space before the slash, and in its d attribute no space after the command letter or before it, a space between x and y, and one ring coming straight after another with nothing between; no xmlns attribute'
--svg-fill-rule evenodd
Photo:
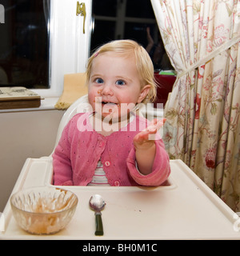
<svg viewBox="0 0 240 256"><path fill-rule="evenodd" d="M83 1L85 34L84 19L76 16L77 2L1 1L0 87L26 86L43 97L59 97L64 74L85 72L90 50L120 38L147 47L148 28L154 40L150 56L154 57L159 32L150 0Z"/></svg>

